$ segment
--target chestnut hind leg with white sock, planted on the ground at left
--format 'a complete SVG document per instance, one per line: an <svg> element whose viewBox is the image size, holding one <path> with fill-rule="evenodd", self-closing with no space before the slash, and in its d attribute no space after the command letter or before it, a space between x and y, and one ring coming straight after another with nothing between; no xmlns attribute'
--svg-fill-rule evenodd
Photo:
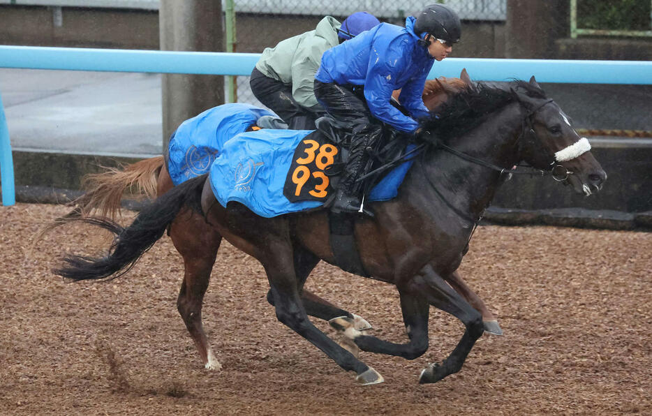
<svg viewBox="0 0 652 416"><path fill-rule="evenodd" d="M221 369L202 324L202 301L222 237L197 213L186 211L172 223L170 237L184 258L184 281L181 283L177 310L186 324L204 367Z"/></svg>

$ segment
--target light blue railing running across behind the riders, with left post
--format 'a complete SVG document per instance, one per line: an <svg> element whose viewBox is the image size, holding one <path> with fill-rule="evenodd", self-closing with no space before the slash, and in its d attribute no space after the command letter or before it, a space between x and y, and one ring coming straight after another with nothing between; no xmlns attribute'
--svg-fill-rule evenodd
<svg viewBox="0 0 652 416"><path fill-rule="evenodd" d="M260 54L225 52L0 45L0 68L249 75L259 57ZM475 80L508 81L535 75L540 82L652 84L651 61L449 58L439 62L430 77L457 77L463 68ZM13 159L1 96L0 174L3 205L14 205Z"/></svg>

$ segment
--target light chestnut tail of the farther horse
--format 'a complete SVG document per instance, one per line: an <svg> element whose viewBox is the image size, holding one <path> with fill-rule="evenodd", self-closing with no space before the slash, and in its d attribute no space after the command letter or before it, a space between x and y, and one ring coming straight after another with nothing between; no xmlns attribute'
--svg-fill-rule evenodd
<svg viewBox="0 0 652 416"><path fill-rule="evenodd" d="M68 204L74 207L68 214L44 225L34 236L33 244L59 225L85 218L94 211L98 212L98 216L116 218L126 190L137 199L156 198L156 183L162 167L163 156L156 156L126 165L122 170L108 168L107 172L87 174L82 179L87 192Z"/></svg>

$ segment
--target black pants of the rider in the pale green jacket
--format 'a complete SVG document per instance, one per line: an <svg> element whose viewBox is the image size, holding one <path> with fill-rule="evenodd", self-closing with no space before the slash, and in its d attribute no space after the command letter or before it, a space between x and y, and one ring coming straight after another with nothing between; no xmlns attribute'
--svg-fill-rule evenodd
<svg viewBox="0 0 652 416"><path fill-rule="evenodd" d="M285 121L292 130L314 130L318 114L306 110L292 98L292 87L267 77L257 68L251 71L249 86L255 98Z"/></svg>

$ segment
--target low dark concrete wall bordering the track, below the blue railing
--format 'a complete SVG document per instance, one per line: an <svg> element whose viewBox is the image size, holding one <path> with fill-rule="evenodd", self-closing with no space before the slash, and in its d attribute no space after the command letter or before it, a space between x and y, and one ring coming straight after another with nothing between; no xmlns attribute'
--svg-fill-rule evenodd
<svg viewBox="0 0 652 416"><path fill-rule="evenodd" d="M496 193L483 223L561 225L613 230L652 230L652 145L595 147L608 178L600 193L585 197L551 177L514 175ZM133 158L14 152L16 200L62 203L81 195L87 173L134 163ZM142 202L126 200L138 209Z"/></svg>

